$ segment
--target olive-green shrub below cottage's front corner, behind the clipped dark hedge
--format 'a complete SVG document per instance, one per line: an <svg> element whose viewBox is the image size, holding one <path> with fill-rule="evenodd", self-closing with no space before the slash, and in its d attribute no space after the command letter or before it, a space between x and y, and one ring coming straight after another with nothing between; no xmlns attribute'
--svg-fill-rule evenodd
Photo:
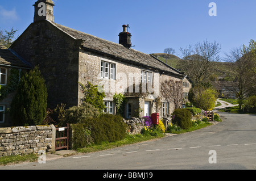
<svg viewBox="0 0 256 181"><path fill-rule="evenodd" d="M63 125L80 123L88 117L98 117L100 111L90 103L83 102L80 106L73 106L66 110L65 122Z"/></svg>

